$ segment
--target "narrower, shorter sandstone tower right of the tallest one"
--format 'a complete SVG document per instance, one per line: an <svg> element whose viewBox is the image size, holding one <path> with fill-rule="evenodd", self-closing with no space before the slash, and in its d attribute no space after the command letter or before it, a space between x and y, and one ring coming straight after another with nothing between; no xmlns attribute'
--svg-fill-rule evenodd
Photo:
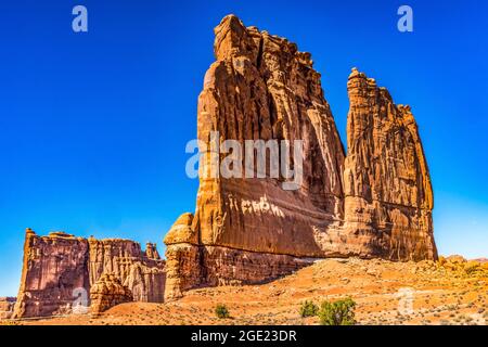
<svg viewBox="0 0 488 347"><path fill-rule="evenodd" d="M373 256L436 258L431 178L410 107L357 69L347 87L345 229L369 239Z"/></svg>

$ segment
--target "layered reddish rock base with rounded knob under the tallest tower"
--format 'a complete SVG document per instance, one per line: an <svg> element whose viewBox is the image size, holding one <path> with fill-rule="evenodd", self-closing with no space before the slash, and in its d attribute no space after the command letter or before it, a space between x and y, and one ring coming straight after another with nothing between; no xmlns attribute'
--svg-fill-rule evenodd
<svg viewBox="0 0 488 347"><path fill-rule="evenodd" d="M182 215L165 239L166 299L196 286L264 282L311 264L288 255L198 245L190 232L192 220L191 214Z"/></svg>

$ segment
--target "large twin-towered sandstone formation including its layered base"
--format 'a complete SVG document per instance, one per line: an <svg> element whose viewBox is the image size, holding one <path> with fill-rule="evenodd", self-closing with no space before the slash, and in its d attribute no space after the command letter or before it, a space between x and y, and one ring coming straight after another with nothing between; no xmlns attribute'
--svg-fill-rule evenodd
<svg viewBox="0 0 488 347"><path fill-rule="evenodd" d="M208 147L213 131L218 143L243 146L303 140L304 179L286 191L282 179L208 178L216 154L205 153L195 215L183 215L165 239L166 296L266 281L309 257L436 258L431 181L410 108L355 70L346 157L309 53L233 15L215 36L198 139Z"/></svg>

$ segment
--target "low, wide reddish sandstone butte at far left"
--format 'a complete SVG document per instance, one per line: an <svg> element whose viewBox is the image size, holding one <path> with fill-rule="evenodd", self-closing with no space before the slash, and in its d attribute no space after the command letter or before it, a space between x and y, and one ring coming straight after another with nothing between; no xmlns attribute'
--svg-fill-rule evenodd
<svg viewBox="0 0 488 347"><path fill-rule="evenodd" d="M126 285L134 300L163 303L165 261L154 244L147 246L142 252L129 240L87 240L64 232L38 236L27 229L14 317L69 313L78 297L89 305L91 286L105 273Z"/></svg>

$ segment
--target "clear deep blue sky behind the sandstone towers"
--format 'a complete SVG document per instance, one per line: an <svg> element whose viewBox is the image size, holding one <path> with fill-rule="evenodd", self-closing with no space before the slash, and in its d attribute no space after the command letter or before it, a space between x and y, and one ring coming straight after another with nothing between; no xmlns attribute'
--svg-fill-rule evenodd
<svg viewBox="0 0 488 347"><path fill-rule="evenodd" d="M72 30L76 4L88 34ZM486 1L1 1L0 295L16 294L26 227L163 250L194 210L184 145L229 13L312 53L344 142L352 66L411 104L440 253L488 256Z"/></svg>

